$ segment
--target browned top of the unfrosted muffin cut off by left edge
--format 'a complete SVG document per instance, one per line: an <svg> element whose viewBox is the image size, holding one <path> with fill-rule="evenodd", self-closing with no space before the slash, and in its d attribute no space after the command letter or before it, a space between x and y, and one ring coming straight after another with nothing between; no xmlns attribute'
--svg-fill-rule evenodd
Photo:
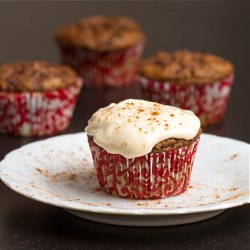
<svg viewBox="0 0 250 250"><path fill-rule="evenodd" d="M45 92L75 84L76 73L67 66L45 61L0 65L0 91Z"/></svg>

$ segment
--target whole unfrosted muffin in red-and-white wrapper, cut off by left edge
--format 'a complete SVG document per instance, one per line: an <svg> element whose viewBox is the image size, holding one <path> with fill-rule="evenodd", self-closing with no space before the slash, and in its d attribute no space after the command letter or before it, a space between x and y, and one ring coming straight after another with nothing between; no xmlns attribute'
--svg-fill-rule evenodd
<svg viewBox="0 0 250 250"><path fill-rule="evenodd" d="M43 136L64 130L81 86L67 66L46 61L0 65L0 132Z"/></svg>

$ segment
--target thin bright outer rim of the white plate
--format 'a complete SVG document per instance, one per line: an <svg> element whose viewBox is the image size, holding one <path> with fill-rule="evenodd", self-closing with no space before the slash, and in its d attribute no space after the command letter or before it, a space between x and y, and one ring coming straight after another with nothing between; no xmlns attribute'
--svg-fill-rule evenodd
<svg viewBox="0 0 250 250"><path fill-rule="evenodd" d="M29 199L47 204L47 205L52 205L52 206L56 206L56 207L61 207L64 209L71 209L71 210L76 210L76 211L82 211L82 212L92 212L92 213L103 213L103 214L119 214L119 215L136 215L136 216L145 216L145 215L150 215L150 216L159 216L159 215L181 215L181 214L193 214L193 213L203 213L203 212L210 212L210 211L217 211L217 210L222 210L222 209L228 209L228 208L233 208L233 207L238 207L238 206L242 206L245 204L249 204L250 203L250 195L248 197L248 199L241 201L239 200L238 202L228 202L228 203L219 203L219 204L212 204L212 205L205 205L204 207L199 207L199 209L197 210L197 207L186 207L186 208L175 208L175 209L169 209L169 208L161 208L161 209L155 209L155 208L132 208L132 209L128 209L128 208L117 208L117 207L103 207L103 206L91 206L91 205L87 205L87 204L81 204L81 207L75 207L72 205L66 205L66 204L62 204L65 201L60 201L57 202L55 200L48 200L48 199L41 199L40 197L37 196L33 196L30 195L26 192L23 192L22 190L20 190L17 186L15 186L15 184L13 182L11 182L11 180L8 181L8 178L5 178L6 175L4 175L4 169L3 169L3 165L4 165L4 161L10 157L13 153L15 153L18 150L21 150L22 148L25 147L30 147L32 144L40 144L49 140L54 140L54 139L58 139L58 138L62 138L62 137L68 137L68 136L80 136L80 135L85 135L85 132L78 132L78 133L71 133L71 134L64 134L64 135L57 135L57 136L53 136L53 137L49 137L46 139L41 139L35 142L31 142L28 144L25 144L17 149L12 150L11 152L9 152L8 154L5 155L5 157L0 161L0 179L2 180L2 182L9 187L11 190L13 190L14 192L25 196ZM218 135L213 135L213 134L208 134L208 133L202 133L202 137L217 137L217 138L222 138L222 139L228 139L228 140L233 140L236 141L238 143L243 143L245 144L245 146L250 146L249 143L244 142L244 141L240 141L237 139L233 139L233 138L228 138L228 137L222 137L222 136L218 136ZM120 198L120 197L118 197ZM124 198L121 198L124 199ZM135 200L135 201L154 201L154 200Z"/></svg>

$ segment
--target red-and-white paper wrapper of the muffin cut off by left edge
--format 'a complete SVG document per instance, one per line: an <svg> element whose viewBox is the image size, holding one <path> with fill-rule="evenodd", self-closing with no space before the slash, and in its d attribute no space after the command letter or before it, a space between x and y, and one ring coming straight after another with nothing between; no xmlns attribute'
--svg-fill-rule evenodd
<svg viewBox="0 0 250 250"><path fill-rule="evenodd" d="M56 134L70 123L82 87L51 92L0 92L0 132L21 136Z"/></svg>

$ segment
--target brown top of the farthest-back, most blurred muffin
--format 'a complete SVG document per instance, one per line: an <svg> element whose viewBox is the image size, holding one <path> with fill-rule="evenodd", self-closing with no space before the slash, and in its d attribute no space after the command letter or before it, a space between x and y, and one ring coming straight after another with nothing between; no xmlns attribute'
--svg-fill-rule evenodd
<svg viewBox="0 0 250 250"><path fill-rule="evenodd" d="M125 16L92 16L61 27L56 32L60 44L95 51L115 51L144 40L139 25Z"/></svg>

